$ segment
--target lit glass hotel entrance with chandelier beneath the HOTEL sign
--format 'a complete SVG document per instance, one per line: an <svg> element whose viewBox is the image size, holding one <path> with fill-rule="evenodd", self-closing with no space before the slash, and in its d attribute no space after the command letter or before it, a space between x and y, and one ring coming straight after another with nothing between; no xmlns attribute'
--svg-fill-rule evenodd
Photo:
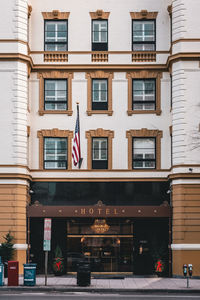
<svg viewBox="0 0 200 300"><path fill-rule="evenodd" d="M67 272L75 272L80 260L90 263L92 272L133 272L133 222L91 219L68 221Z"/></svg>

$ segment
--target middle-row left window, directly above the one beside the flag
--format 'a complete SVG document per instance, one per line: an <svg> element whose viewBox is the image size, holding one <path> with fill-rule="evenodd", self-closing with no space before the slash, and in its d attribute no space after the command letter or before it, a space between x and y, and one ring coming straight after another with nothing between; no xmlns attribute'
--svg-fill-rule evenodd
<svg viewBox="0 0 200 300"><path fill-rule="evenodd" d="M45 79L44 109L67 110L67 80Z"/></svg>

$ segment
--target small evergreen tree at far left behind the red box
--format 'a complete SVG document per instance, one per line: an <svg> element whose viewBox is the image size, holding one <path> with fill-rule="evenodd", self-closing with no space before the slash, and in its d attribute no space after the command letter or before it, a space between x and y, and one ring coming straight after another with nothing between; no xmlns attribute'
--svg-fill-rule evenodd
<svg viewBox="0 0 200 300"><path fill-rule="evenodd" d="M2 262L4 263L4 276L7 277L8 261L13 258L14 254L14 237L9 231L3 238L5 242L0 245L0 256L2 258Z"/></svg>

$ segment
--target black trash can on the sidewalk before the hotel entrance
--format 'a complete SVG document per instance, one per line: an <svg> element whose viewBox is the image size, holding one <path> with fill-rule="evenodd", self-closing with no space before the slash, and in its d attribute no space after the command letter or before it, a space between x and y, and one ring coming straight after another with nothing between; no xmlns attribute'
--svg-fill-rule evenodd
<svg viewBox="0 0 200 300"><path fill-rule="evenodd" d="M91 282L90 264L87 262L80 262L77 265L77 285L89 286Z"/></svg>

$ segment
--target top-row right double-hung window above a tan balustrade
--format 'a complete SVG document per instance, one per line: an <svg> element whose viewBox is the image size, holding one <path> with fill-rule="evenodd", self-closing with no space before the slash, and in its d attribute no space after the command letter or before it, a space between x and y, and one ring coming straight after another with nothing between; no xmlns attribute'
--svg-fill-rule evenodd
<svg viewBox="0 0 200 300"><path fill-rule="evenodd" d="M156 20L133 20L133 51L156 50Z"/></svg>

